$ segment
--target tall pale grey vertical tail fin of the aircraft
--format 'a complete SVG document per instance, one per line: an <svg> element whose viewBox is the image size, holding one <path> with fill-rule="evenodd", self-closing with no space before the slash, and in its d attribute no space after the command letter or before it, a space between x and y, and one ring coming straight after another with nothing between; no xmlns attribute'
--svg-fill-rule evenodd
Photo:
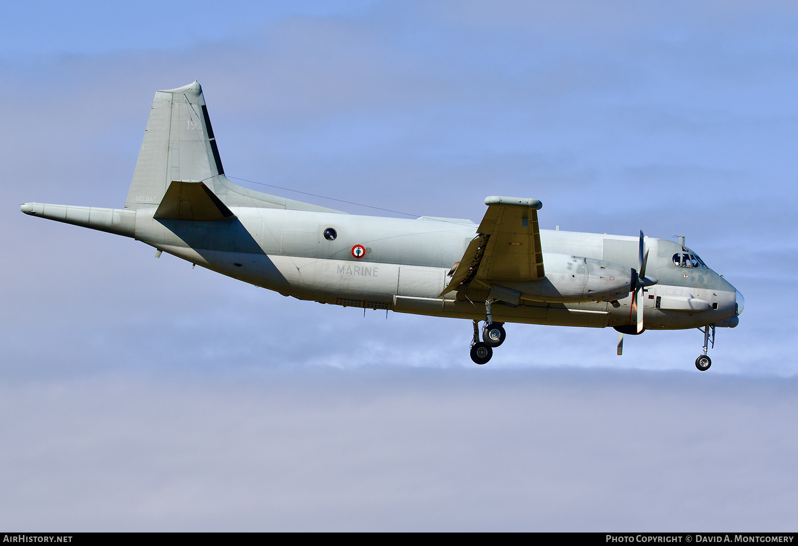
<svg viewBox="0 0 798 546"><path fill-rule="evenodd" d="M124 208L156 207L172 180L199 181L222 174L199 83L156 91Z"/></svg>

